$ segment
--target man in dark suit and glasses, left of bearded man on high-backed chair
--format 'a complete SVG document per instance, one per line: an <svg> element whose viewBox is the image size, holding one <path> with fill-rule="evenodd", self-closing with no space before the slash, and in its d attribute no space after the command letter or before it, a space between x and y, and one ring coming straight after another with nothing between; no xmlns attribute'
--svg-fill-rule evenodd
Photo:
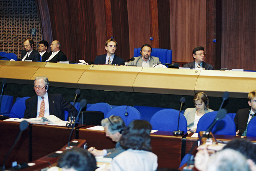
<svg viewBox="0 0 256 171"><path fill-rule="evenodd" d="M124 62L122 58L115 55L117 42L114 39L108 39L105 43L107 54L96 56L94 64L117 64L120 65Z"/></svg>

